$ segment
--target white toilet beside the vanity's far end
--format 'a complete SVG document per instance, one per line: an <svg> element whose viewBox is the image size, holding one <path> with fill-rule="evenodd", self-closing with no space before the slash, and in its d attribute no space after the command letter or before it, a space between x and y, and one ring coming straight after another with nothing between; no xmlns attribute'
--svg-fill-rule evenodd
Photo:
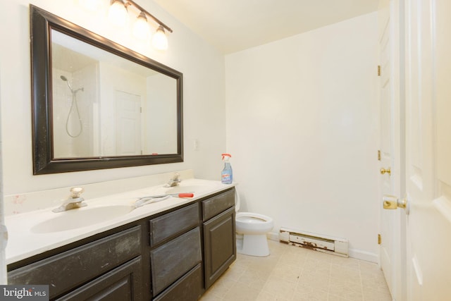
<svg viewBox="0 0 451 301"><path fill-rule="evenodd" d="M235 226L237 238L237 252L251 256L268 256L268 240L266 233L272 230L274 221L271 217L252 212L238 212L240 197L236 191Z"/></svg>

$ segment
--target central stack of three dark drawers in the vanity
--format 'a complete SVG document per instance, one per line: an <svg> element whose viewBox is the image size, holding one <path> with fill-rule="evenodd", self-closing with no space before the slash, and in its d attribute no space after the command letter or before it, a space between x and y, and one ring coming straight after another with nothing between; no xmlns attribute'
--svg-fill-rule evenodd
<svg viewBox="0 0 451 301"><path fill-rule="evenodd" d="M199 203L150 221L154 300L195 301L204 293Z"/></svg>

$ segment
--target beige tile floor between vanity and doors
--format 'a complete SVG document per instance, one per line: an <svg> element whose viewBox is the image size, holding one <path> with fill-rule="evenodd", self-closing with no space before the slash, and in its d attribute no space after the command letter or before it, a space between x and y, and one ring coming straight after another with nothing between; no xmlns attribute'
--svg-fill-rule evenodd
<svg viewBox="0 0 451 301"><path fill-rule="evenodd" d="M391 301L377 264L268 243L270 256L238 254L200 301Z"/></svg>

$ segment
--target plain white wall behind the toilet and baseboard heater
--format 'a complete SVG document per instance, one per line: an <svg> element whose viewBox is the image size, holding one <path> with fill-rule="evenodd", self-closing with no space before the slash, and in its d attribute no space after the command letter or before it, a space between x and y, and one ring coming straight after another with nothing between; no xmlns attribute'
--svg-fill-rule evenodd
<svg viewBox="0 0 451 301"><path fill-rule="evenodd" d="M226 56L241 211L377 261L377 57L376 13Z"/></svg>

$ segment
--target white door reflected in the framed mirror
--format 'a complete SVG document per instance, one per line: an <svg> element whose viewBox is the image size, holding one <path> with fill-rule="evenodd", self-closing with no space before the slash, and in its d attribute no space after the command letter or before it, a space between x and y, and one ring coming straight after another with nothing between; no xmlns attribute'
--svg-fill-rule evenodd
<svg viewBox="0 0 451 301"><path fill-rule="evenodd" d="M141 154L141 97L116 91L116 156Z"/></svg>

